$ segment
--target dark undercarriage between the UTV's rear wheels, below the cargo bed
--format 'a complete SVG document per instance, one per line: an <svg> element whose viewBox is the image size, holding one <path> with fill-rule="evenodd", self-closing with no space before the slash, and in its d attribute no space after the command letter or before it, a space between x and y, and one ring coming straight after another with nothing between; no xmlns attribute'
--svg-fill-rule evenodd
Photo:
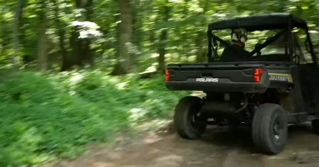
<svg viewBox="0 0 319 167"><path fill-rule="evenodd" d="M207 96L202 98L200 116L203 120L206 120L208 125L251 125L254 112L260 104L292 105L282 104L283 100L280 99L283 96L288 98L289 92L286 92L286 95L279 95L275 89L267 90L264 94L205 93Z"/></svg>

